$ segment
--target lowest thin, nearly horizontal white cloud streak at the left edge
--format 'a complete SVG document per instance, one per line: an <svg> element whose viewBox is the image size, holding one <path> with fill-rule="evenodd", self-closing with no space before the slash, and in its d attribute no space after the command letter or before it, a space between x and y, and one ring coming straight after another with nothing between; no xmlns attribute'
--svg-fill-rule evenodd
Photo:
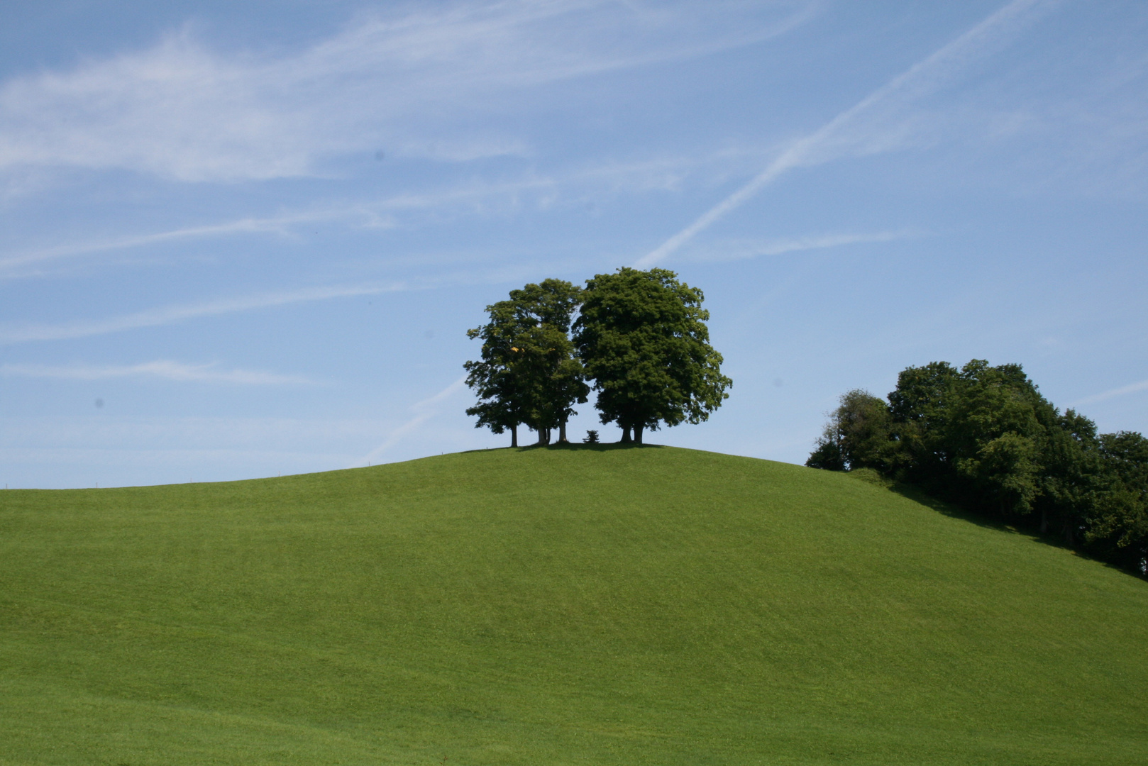
<svg viewBox="0 0 1148 766"><path fill-rule="evenodd" d="M316 381L302 376L282 376L259 370L220 370L217 364L184 364L157 359L126 365L47 365L2 364L0 376L18 378L61 378L65 380L108 380L113 378L162 378L193 382L223 382L243 386L310 386Z"/></svg>

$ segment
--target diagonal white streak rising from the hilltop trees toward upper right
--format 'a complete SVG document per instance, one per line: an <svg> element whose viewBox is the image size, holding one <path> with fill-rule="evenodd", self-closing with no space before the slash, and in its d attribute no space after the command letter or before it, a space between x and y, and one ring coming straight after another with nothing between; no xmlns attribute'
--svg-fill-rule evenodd
<svg viewBox="0 0 1148 766"><path fill-rule="evenodd" d="M900 148L910 140L915 129L913 116L900 111L906 103L955 80L972 62L995 52L1011 33L1030 23L1038 10L1052 5L1053 1L1045 0L1013 0L813 133L791 144L758 176L638 258L635 265L651 266L670 256L794 168L820 164L841 156Z"/></svg>

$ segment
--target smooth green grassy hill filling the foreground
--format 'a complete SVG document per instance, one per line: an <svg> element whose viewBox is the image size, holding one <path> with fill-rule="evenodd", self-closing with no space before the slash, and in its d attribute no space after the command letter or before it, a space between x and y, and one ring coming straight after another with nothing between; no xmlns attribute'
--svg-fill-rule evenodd
<svg viewBox="0 0 1148 766"><path fill-rule="evenodd" d="M845 474L0 492L0 764L1142 764L1148 582Z"/></svg>

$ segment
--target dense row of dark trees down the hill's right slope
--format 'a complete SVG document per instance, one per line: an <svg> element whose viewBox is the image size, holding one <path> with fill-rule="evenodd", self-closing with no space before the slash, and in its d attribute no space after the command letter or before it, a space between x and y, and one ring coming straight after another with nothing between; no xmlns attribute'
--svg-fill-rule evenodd
<svg viewBox="0 0 1148 766"><path fill-rule="evenodd" d="M1148 573L1148 439L1097 434L1018 364L908 367L887 401L851 390L806 465L872 469Z"/></svg>

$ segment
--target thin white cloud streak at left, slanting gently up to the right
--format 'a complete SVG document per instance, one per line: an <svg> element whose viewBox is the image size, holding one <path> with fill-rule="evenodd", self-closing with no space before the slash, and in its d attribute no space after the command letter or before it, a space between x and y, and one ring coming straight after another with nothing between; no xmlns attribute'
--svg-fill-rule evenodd
<svg viewBox="0 0 1148 766"><path fill-rule="evenodd" d="M342 285L332 287L310 287L282 293L258 293L233 299L205 301L202 303L183 303L168 305L135 314L127 314L107 319L80 319L61 324L41 325L0 325L0 345L9 346L28 341L64 340L69 338L87 338L107 333L154 327L196 317L234 314L288 303L308 301L326 301L335 297L355 295L379 295L411 289L405 284L390 285Z"/></svg>

